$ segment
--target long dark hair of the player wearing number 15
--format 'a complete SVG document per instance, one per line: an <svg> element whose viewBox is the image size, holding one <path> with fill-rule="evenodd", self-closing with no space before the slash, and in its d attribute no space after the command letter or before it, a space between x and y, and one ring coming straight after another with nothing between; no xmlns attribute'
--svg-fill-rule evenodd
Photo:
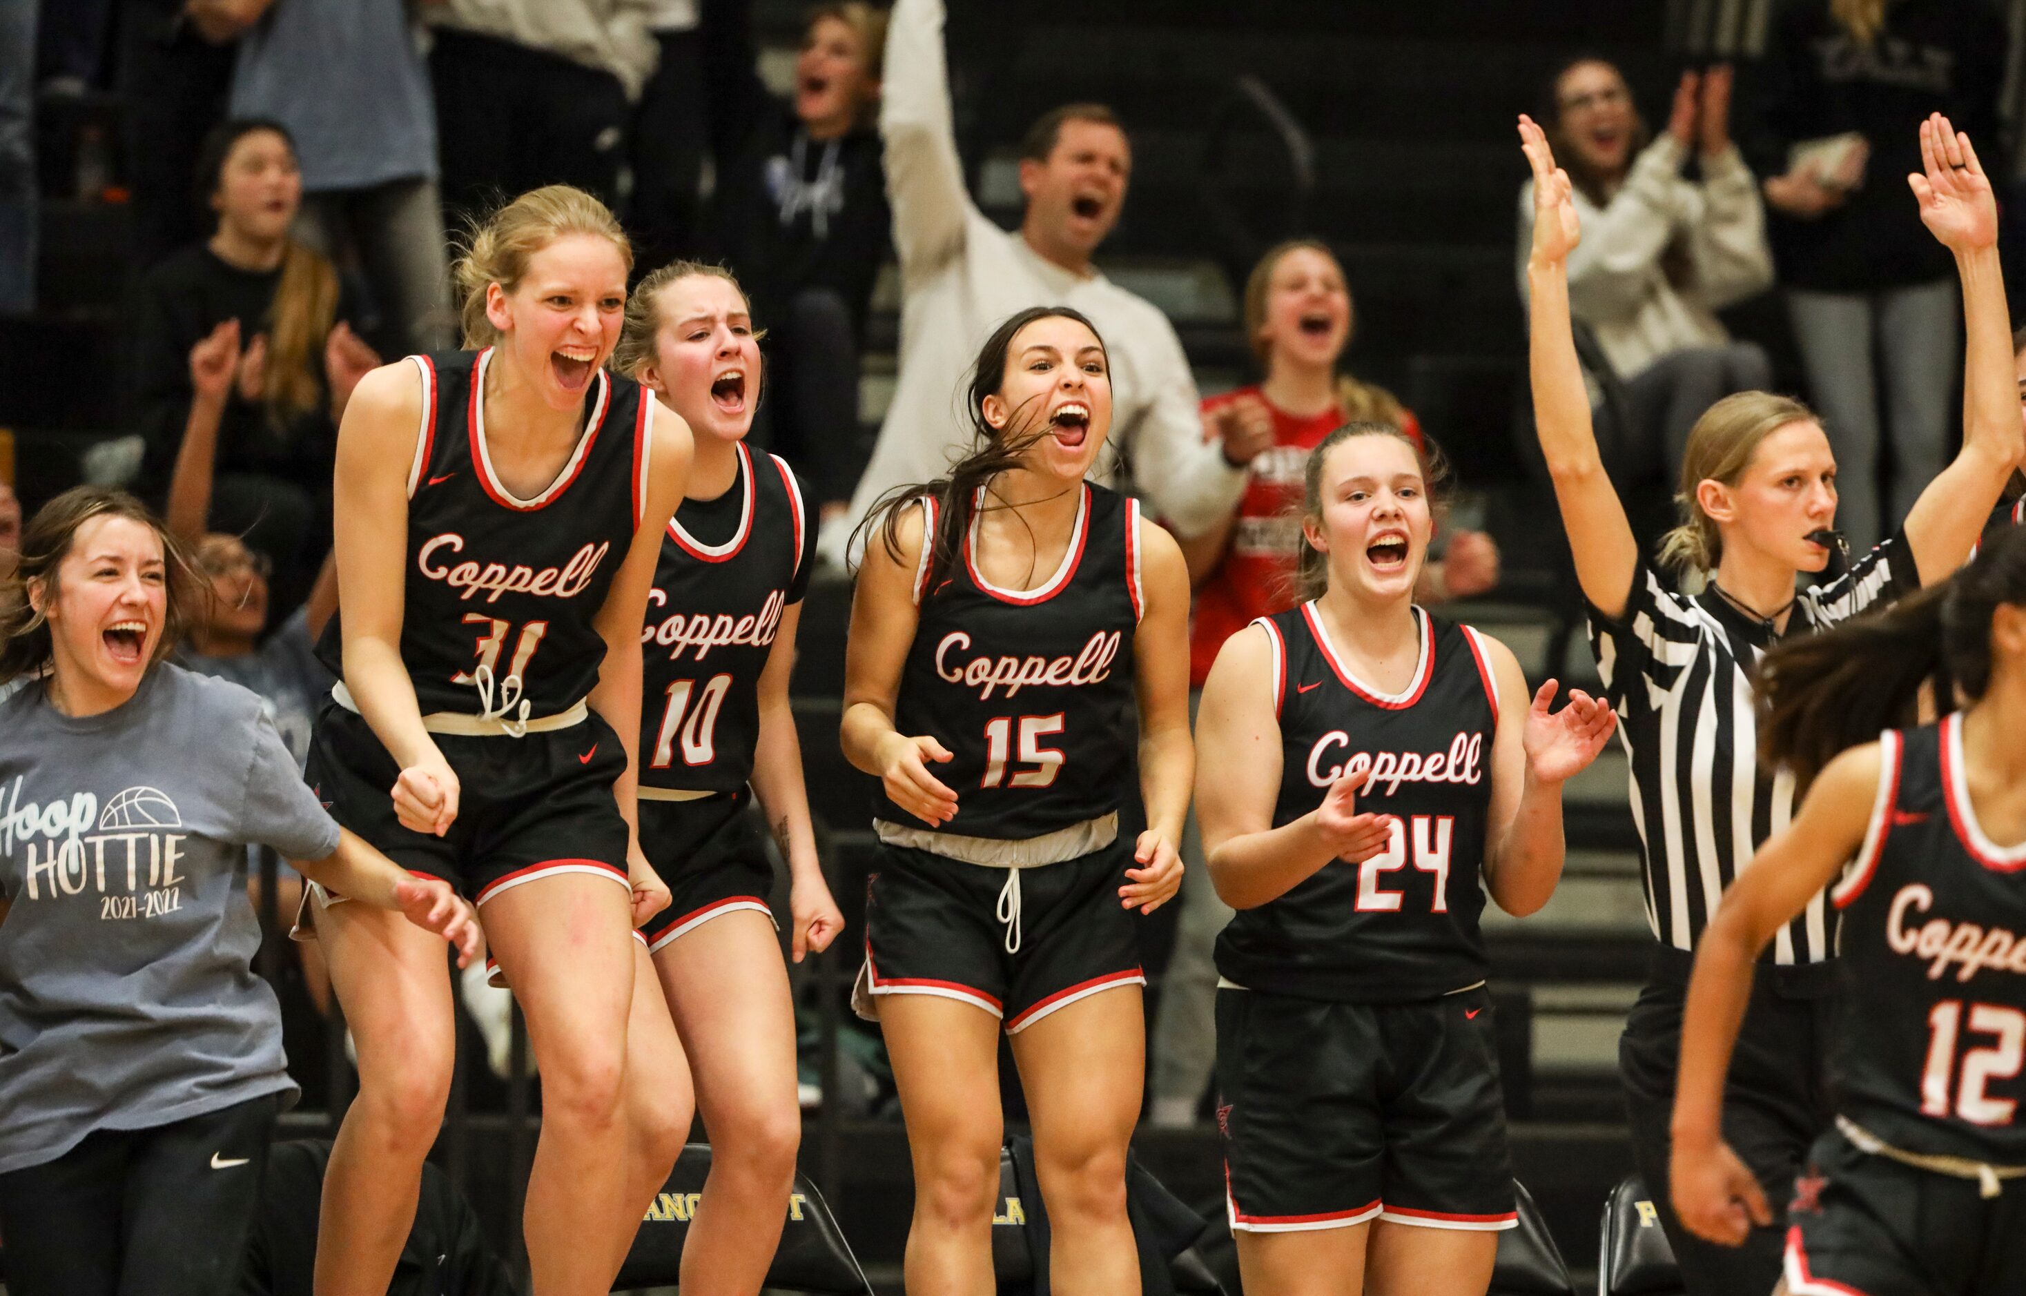
<svg viewBox="0 0 2026 1296"><path fill-rule="evenodd" d="M958 547L964 543L964 533L970 531L970 516L975 512L979 486L985 486L1001 472L1019 468L1027 450L1047 435L1047 427L1015 433L1013 417L1007 419L1005 427L993 427L985 421L985 397L999 395L999 389L1005 387L1007 354L1013 350L1013 338L1035 320L1076 320L1090 330L1090 336L1098 340L1098 348L1104 350L1104 334L1098 332L1098 326L1084 318L1082 312L1070 310L1068 306L1029 306L1027 310L1007 316L999 328L993 330L993 336L985 338L985 346L979 348L977 364L970 369L970 387L964 393L970 405L964 415L970 419L970 437L975 441L972 452L950 466L950 474L944 478L895 486L879 496L879 502L873 504L871 512L865 514L865 520L859 522L859 529L851 535L851 551L857 551L859 541L871 545L877 535L879 543L885 545L887 557L895 563L902 561L902 518L916 500L934 500L936 533L922 537L922 543L928 545L926 589L934 591L942 583L942 573L956 563ZM1106 369L1110 369L1110 352L1106 352ZM928 593L924 593L924 597L928 597Z"/></svg>

